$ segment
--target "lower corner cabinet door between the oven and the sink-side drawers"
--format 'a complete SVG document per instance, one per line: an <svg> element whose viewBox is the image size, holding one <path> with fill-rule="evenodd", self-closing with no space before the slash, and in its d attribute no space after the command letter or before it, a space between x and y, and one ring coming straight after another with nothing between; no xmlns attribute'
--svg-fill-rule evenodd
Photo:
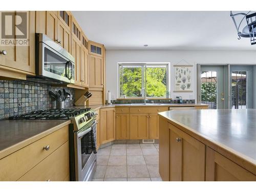
<svg viewBox="0 0 256 192"><path fill-rule="evenodd" d="M100 109L100 143L116 139L115 108Z"/></svg>

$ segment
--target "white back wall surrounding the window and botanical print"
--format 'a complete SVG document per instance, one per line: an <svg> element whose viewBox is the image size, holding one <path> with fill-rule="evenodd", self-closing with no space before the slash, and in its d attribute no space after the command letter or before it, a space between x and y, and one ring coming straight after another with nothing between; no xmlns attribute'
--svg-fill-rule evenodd
<svg viewBox="0 0 256 192"><path fill-rule="evenodd" d="M174 93L174 67L184 59L194 65L192 93ZM172 51L172 50L106 50L106 90L112 99L118 97L118 62L170 62L170 98L196 99L197 63L256 63L256 51ZM187 65L182 61L179 64Z"/></svg>

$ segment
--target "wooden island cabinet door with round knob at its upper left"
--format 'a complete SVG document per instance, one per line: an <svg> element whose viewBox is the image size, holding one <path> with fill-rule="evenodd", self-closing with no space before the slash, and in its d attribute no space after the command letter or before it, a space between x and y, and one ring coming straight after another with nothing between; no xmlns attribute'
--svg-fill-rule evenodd
<svg viewBox="0 0 256 192"><path fill-rule="evenodd" d="M205 145L172 124L169 129L170 181L205 181Z"/></svg>

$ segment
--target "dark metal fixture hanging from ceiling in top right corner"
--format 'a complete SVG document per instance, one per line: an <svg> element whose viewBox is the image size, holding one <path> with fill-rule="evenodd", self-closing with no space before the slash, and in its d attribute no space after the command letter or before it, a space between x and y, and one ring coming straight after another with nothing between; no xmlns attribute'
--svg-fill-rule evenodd
<svg viewBox="0 0 256 192"><path fill-rule="evenodd" d="M233 19L234 26L237 29L238 39L241 39L241 37L247 37L247 38L249 37L251 45L255 45L256 44L256 12L251 13L251 11L248 11L246 13L240 12L240 13L233 14L232 11L230 11L230 17Z"/></svg>

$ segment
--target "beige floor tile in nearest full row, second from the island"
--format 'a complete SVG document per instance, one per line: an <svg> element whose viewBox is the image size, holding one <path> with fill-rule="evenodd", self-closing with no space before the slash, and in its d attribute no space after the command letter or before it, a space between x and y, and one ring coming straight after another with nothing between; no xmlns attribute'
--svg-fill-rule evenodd
<svg viewBox="0 0 256 192"><path fill-rule="evenodd" d="M146 165L127 165L127 177L128 178L149 177Z"/></svg>

